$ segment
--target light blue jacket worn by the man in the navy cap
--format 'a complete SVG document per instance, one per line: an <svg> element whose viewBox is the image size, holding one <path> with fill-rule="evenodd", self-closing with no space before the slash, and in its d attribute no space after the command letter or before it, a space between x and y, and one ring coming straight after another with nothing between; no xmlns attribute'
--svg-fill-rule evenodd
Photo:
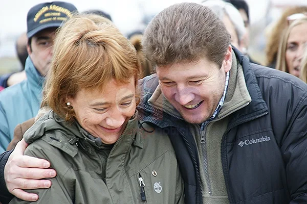
<svg viewBox="0 0 307 204"><path fill-rule="evenodd" d="M34 67L30 57L26 61L27 79L0 92L0 154L13 139L17 124L36 116L45 78Z"/></svg>

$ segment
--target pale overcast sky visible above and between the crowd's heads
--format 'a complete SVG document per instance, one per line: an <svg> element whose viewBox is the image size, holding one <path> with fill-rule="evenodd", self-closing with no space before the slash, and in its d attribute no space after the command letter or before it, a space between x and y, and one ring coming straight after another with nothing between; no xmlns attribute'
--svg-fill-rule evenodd
<svg viewBox="0 0 307 204"><path fill-rule="evenodd" d="M74 4L79 11L100 9L111 14L114 23L127 34L138 28L144 14L153 15L162 9L181 2L201 0L64 0ZM36 4L46 0L0 0L0 58L14 54L16 37L25 32L27 13ZM251 23L264 16L268 0L247 0ZM307 0L273 0L275 4L307 4Z"/></svg>

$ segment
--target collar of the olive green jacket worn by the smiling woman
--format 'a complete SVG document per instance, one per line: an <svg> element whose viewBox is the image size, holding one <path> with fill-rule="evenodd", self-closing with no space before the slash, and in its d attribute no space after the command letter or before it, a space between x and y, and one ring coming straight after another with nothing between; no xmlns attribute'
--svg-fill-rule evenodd
<svg viewBox="0 0 307 204"><path fill-rule="evenodd" d="M128 120L125 130L115 143L123 151L130 148L131 145L143 148L142 137L138 131L139 116L138 112ZM78 152L78 146L94 154L95 148L103 148L101 140L90 135L77 122L68 123L60 118L53 111L47 112L41 116L24 135L27 143L32 143L37 139L42 139L47 143L67 152L74 157ZM123 152L121 151L121 152Z"/></svg>

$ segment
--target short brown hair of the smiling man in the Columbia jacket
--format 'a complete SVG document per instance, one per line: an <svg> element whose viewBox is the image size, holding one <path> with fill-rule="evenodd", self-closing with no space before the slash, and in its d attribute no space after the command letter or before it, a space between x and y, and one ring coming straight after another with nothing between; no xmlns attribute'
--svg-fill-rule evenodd
<svg viewBox="0 0 307 204"><path fill-rule="evenodd" d="M208 7L195 3L170 6L148 24L143 38L146 57L157 66L203 58L222 66L230 34Z"/></svg>

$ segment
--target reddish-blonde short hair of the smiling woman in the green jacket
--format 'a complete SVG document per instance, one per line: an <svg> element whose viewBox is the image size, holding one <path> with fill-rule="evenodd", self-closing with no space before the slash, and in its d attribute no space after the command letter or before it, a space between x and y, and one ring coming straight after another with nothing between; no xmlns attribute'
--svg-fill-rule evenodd
<svg viewBox="0 0 307 204"><path fill-rule="evenodd" d="M102 90L111 80L138 82L136 50L108 19L94 15L75 15L57 33L48 76L48 106L67 121L74 110L66 105L69 97L85 89Z"/></svg>

